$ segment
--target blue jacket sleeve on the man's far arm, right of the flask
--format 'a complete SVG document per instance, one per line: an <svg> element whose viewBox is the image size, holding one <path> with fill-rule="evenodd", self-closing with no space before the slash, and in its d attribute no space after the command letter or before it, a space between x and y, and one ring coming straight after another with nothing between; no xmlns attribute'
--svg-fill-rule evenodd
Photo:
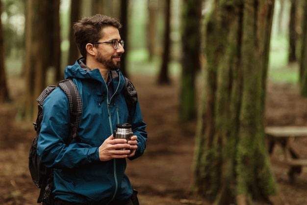
<svg viewBox="0 0 307 205"><path fill-rule="evenodd" d="M147 132L145 131L146 123L143 121L140 104L137 101L135 108L130 111L131 125L133 135L137 136L137 149L133 157L129 157L130 160L141 156L146 148Z"/></svg>

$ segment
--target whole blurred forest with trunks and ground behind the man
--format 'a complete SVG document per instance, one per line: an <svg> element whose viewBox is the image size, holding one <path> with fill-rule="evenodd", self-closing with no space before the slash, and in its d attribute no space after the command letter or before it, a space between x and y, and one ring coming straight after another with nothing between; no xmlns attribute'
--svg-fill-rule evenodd
<svg viewBox="0 0 307 205"><path fill-rule="evenodd" d="M307 205L266 126L307 126L305 0L1 0L0 204L33 205L27 168L39 93L79 53L71 25L119 18L121 70L149 141L127 174L141 205ZM307 157L307 139L293 141ZM291 180L292 179L292 180Z"/></svg>

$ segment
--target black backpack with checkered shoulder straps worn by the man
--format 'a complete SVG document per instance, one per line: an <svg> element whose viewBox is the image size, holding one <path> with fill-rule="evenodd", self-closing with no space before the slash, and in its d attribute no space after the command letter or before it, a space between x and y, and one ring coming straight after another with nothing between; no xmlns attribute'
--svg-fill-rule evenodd
<svg viewBox="0 0 307 205"><path fill-rule="evenodd" d="M37 154L37 141L39 138L41 130L41 122L43 119L43 103L46 97L56 88L57 86L48 86L46 87L39 97L37 98L38 102L38 114L36 122L34 124L34 129L36 131L36 136L32 141L32 145L29 151L29 171L32 177L34 184L40 188L40 194L37 199L37 203L42 203L43 205L52 205L53 197L51 197L53 190L53 169L47 168L40 161L40 158ZM58 83L60 87L68 97L69 100L69 110L70 110L70 136L66 140L66 144L69 145L73 139L76 139L77 142L81 142L81 139L78 135L77 128L79 126L81 112L82 112L82 102L77 86L72 79L62 80ZM128 107L128 112L136 106L137 103L137 92L132 85L132 83L125 77L125 86L124 86L124 96L126 104ZM130 115L129 115L130 116ZM128 119L130 122L130 117Z"/></svg>

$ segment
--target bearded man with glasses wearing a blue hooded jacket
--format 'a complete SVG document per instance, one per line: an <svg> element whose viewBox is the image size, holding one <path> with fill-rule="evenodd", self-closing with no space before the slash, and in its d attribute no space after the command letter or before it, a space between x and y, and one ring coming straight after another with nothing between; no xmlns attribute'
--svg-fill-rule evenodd
<svg viewBox="0 0 307 205"><path fill-rule="evenodd" d="M82 58L64 73L66 79L73 79L82 99L81 142L65 144L70 131L69 101L63 90L55 88L44 101L37 153L47 167L54 168L55 205L132 205L126 158L143 154L147 133L139 103L128 112L122 91L121 24L97 14L73 28ZM114 139L116 124L128 120L134 135L128 141Z"/></svg>

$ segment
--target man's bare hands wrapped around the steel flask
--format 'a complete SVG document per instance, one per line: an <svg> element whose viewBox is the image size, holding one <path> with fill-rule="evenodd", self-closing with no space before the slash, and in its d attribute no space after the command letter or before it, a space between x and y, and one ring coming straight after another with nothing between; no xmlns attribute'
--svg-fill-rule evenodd
<svg viewBox="0 0 307 205"><path fill-rule="evenodd" d="M137 137L132 136L130 139L134 139L133 137L135 137L135 140L129 140L127 142L126 139L114 139L112 134L99 147L100 161L109 161L111 159L121 159L126 158L128 156L133 156L135 153L135 149L137 148L137 146L135 146L137 143ZM122 148L126 148L127 150L119 150ZM130 149L134 150L134 152L130 151Z"/></svg>

